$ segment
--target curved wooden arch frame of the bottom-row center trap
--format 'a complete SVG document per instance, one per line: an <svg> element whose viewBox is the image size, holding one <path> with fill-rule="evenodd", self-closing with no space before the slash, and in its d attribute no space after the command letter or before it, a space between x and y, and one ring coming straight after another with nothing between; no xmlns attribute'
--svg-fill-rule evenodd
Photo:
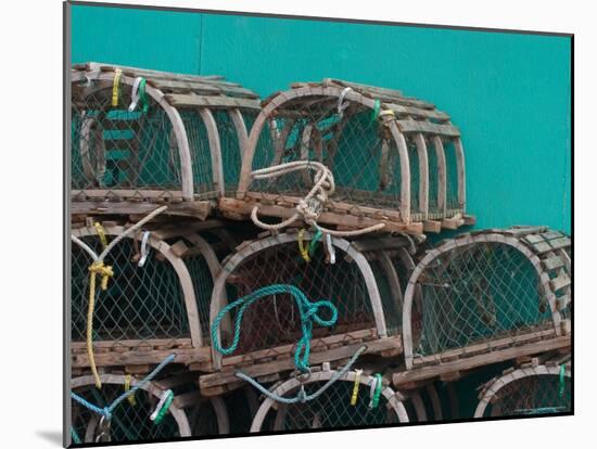
<svg viewBox="0 0 597 449"><path fill-rule="evenodd" d="M329 381L334 374L336 373L335 370L323 370L318 372L313 372L310 376L304 382L304 385L314 384L314 383L321 383ZM340 407L345 407L350 409L353 406L350 406L351 400L351 392L353 389L353 385L356 380L356 373L354 371L346 372L342 377L340 377L336 383L348 383L347 394L345 397L344 403L338 403ZM373 381L373 377L361 373L359 377L359 401L363 400L364 395L369 394L369 385ZM272 393L275 393L278 396L294 396L296 390L301 387L301 381L298 381L296 377L292 377L281 384L279 384L277 387L274 388ZM333 385L332 385L333 387ZM406 413L406 409L404 408L404 405L402 403L399 399L399 395L394 392L391 387L384 386L381 392L382 397L385 399L385 405L382 405L380 401L380 405L378 407L383 408L385 407L388 410L386 420L390 420L390 422L398 422L398 423L407 423L408 414ZM261 432L262 427L264 425L264 422L270 411L274 411L276 413L276 418L274 420L274 428L275 432L284 431L284 421L287 419L287 413L289 413L289 407L308 407L312 402L317 402L319 399L314 399L313 401L307 401L304 405L303 403L296 403L287 406L283 403L278 403L274 399L266 398L259 409L257 410L257 413L255 414L255 418L253 420L253 424L251 425L251 433ZM395 420L395 421L394 421ZM374 424L374 423L373 423ZM379 423L377 423L379 424ZM352 424L354 425L354 424ZM356 424L356 425L367 425L367 424ZM309 427L309 428L319 428L317 426ZM338 428L338 427L334 427Z"/></svg>

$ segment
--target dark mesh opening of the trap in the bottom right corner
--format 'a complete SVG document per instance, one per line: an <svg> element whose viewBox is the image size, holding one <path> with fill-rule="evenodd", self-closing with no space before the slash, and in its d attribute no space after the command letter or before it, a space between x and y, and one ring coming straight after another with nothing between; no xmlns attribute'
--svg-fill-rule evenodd
<svg viewBox="0 0 597 449"><path fill-rule="evenodd" d="M484 416L525 416L570 412L570 377L560 383L558 375L531 375L500 388Z"/></svg>

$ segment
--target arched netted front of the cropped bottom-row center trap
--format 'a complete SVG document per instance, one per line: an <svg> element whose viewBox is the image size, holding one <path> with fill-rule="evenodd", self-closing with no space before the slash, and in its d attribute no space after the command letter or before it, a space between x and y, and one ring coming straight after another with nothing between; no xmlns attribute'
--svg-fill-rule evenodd
<svg viewBox="0 0 597 449"><path fill-rule="evenodd" d="M294 397L304 389L310 396L320 390L334 373L313 372L304 381L293 377L275 386L271 392L281 397ZM282 403L266 397L253 420L251 432L366 427L408 422L406 409L391 387L382 385L378 399L373 400L373 380L371 375L348 371L319 396L305 402Z"/></svg>

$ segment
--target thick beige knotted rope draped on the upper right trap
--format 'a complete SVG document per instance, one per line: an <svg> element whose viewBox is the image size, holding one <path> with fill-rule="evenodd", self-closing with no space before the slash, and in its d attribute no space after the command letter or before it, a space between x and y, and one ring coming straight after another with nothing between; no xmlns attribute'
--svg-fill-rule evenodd
<svg viewBox="0 0 597 449"><path fill-rule="evenodd" d="M333 194L335 190L335 183L331 170L317 161L294 161L291 163L261 168L252 171L251 177L257 180L270 179L300 170L314 170L315 177L313 188L305 195L305 197L298 201L298 204L295 207L296 211L285 220L282 220L276 224L268 224L259 219L257 215L259 207L255 206L251 210L251 220L253 220L256 226L268 231L279 231L280 229L285 228L302 218L303 221L309 226L313 226L315 229L335 236L361 235L368 232L378 231L385 227L385 223L377 223L368 228L356 229L353 231L335 231L317 224L317 219L321 215L323 204L327 203L328 197Z"/></svg>

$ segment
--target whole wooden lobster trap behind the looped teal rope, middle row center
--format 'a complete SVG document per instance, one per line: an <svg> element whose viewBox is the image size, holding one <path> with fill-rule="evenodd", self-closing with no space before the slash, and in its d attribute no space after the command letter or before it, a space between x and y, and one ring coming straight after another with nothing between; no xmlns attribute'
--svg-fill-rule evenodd
<svg viewBox="0 0 597 449"><path fill-rule="evenodd" d="M399 309L392 297L380 297L371 265L358 244L329 235L317 241L314 236L301 231L249 241L224 261L211 303L213 365L219 372L201 376L203 394L220 394L242 385L234 376L239 369L266 382L295 368L292 355L302 334L302 311L291 294L277 291L265 295L242 312L240 321L239 309L224 310L229 303L272 285L292 285L310 302L328 300L335 307L333 325L313 328L310 360L315 363L350 358L363 342L367 354L389 357L402 352L395 325ZM300 244L309 248L308 261ZM214 328L223 312L227 313L225 319ZM318 313L328 318L326 310ZM234 330L240 331L236 350L220 354L214 337L229 347Z"/></svg>

